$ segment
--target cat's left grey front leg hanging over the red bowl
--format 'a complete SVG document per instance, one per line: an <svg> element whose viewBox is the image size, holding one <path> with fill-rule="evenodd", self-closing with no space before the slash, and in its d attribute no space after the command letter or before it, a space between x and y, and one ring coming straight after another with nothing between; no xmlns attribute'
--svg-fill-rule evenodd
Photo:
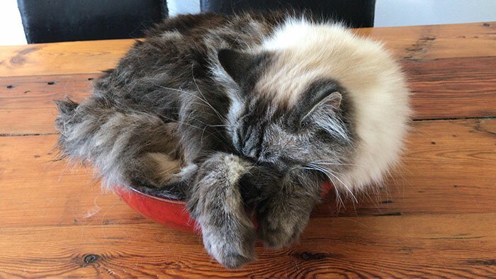
<svg viewBox="0 0 496 279"><path fill-rule="evenodd" d="M228 268L255 258L256 231L245 211L239 179L250 164L218 152L198 168L188 196L188 210L201 227L205 249Z"/></svg>

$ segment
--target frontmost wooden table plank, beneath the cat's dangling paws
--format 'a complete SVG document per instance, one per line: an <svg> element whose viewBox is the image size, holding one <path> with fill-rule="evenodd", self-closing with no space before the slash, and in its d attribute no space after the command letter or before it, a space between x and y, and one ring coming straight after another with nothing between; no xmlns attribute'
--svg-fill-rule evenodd
<svg viewBox="0 0 496 279"><path fill-rule="evenodd" d="M199 237L157 224L2 228L0 276L488 278L496 272L496 223L488 222L495 218L315 218L299 244L281 251L258 244L258 260L236 271L215 263Z"/></svg>

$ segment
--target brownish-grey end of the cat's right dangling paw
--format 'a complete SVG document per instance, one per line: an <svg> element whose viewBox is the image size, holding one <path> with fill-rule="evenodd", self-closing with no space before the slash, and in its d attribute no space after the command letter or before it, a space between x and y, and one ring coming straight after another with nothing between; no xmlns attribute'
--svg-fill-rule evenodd
<svg viewBox="0 0 496 279"><path fill-rule="evenodd" d="M259 217L259 237L266 247L281 249L293 244L308 224L310 215L306 213L282 212L269 210Z"/></svg>

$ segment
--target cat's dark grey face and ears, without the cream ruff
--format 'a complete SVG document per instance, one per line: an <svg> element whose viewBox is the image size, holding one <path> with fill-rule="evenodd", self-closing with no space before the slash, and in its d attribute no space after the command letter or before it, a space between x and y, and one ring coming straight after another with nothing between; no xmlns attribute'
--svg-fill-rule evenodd
<svg viewBox="0 0 496 279"><path fill-rule="evenodd" d="M337 164L351 152L351 125L342 110L346 101L335 81L315 79L292 94L298 98L289 103L257 86L271 67L269 56L227 51L219 57L238 84L230 93L227 133L239 155L286 172L309 163Z"/></svg>

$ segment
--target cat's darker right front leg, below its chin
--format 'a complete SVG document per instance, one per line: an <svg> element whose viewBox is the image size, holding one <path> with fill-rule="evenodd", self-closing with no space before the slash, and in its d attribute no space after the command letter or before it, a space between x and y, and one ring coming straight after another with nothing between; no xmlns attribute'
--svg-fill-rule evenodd
<svg viewBox="0 0 496 279"><path fill-rule="evenodd" d="M266 246L279 249L298 240L312 208L320 200L321 179L315 173L294 171L276 193L258 208L259 236Z"/></svg>

